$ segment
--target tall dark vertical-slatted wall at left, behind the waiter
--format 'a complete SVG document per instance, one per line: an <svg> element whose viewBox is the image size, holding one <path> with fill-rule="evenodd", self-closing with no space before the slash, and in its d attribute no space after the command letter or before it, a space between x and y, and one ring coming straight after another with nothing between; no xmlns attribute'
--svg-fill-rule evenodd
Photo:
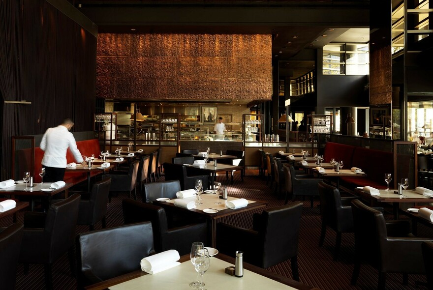
<svg viewBox="0 0 433 290"><path fill-rule="evenodd" d="M93 130L96 37L45 0L0 1L1 180L10 177L11 136L43 134L64 117Z"/></svg>

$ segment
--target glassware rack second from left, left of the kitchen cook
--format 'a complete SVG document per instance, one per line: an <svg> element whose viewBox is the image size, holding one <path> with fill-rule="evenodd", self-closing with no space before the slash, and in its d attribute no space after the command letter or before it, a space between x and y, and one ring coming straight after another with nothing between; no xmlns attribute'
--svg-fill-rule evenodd
<svg viewBox="0 0 433 290"><path fill-rule="evenodd" d="M179 114L161 114L159 117L160 144L164 146L179 145Z"/></svg>

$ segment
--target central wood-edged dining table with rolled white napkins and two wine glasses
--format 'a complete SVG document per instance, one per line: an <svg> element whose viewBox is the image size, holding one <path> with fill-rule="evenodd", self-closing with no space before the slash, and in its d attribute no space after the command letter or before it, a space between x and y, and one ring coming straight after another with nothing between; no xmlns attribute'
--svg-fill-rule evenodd
<svg viewBox="0 0 433 290"><path fill-rule="evenodd" d="M211 241L211 245L215 247L216 243L216 222L218 219L230 216L233 214L238 214L241 212L262 208L267 205L267 202L259 201L259 200L251 200L248 199L247 206L230 209L225 206L226 202L237 200L236 197L228 196L227 200L223 200L218 197L217 194L214 193L214 190L207 190L203 194L200 195L200 203L196 205L195 208L186 209L183 207L176 206L176 199L169 199L167 201L154 201L153 203L164 207L166 210L177 210L177 211L188 211L188 213L192 213L197 217L205 218L208 224L208 236ZM184 198L186 201L195 201L196 196L190 198ZM218 203L218 204L216 204Z"/></svg>

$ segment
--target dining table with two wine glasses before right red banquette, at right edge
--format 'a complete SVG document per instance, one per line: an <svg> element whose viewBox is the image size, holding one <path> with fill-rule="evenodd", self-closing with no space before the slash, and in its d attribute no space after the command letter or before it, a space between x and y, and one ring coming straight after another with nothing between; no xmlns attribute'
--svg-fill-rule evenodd
<svg viewBox="0 0 433 290"><path fill-rule="evenodd" d="M371 205L375 203L392 203L393 213L396 220L400 217L400 203L431 203L433 199L429 196L421 195L415 190L407 189L406 193L398 194L397 190L390 189L379 189L379 194L371 195L370 193L364 192L361 187L355 189L355 194L359 195L361 198L370 201ZM405 195L405 196L404 196Z"/></svg>

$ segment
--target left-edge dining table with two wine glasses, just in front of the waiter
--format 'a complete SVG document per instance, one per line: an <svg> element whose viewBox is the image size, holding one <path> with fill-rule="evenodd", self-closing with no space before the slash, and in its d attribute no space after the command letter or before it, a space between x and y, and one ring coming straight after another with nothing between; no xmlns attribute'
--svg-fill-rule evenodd
<svg viewBox="0 0 433 290"><path fill-rule="evenodd" d="M44 182L44 183L34 183L33 187L27 187L26 183L18 181L19 183L15 183L15 185L1 188L0 195L9 195L11 198L15 198L16 196L26 196L30 198L30 210L34 210L34 200L36 198L46 198L47 204L51 203L51 200L54 195L65 192L65 198L68 196L68 189L73 186L73 183L66 183L61 188L51 188L51 184L53 182Z"/></svg>

